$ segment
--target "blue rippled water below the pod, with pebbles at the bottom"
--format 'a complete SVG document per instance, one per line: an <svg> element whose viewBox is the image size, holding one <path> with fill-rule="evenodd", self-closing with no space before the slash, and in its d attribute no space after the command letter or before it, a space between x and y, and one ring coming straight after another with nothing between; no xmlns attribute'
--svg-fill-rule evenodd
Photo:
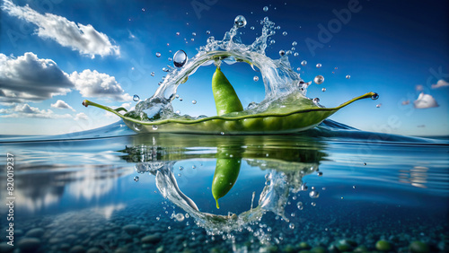
<svg viewBox="0 0 449 253"><path fill-rule="evenodd" d="M118 122L0 137L3 163L13 154L15 196L13 247L5 244L11 211L0 208L3 251L374 251L379 240L391 252L409 252L416 240L429 252L449 249L444 137L374 134L331 120L295 135L136 135ZM241 169L216 209L221 155ZM164 175L179 191L163 186ZM4 201L6 180L2 173ZM180 192L198 211L170 197ZM210 215L230 213L240 222Z"/></svg>

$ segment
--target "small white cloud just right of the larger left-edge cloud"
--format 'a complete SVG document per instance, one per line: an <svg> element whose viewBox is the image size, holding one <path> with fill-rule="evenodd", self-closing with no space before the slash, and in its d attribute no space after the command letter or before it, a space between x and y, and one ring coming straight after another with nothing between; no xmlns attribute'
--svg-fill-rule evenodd
<svg viewBox="0 0 449 253"><path fill-rule="evenodd" d="M86 69L82 73L75 71L70 74L70 80L83 97L101 97L119 101L132 100L131 95L124 93L125 91L117 83L115 77L109 74Z"/></svg>

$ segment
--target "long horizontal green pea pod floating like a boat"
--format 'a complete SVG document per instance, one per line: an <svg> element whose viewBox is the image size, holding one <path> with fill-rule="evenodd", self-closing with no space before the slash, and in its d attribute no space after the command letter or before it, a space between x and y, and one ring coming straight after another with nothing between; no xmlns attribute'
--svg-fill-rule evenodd
<svg viewBox="0 0 449 253"><path fill-rule="evenodd" d="M317 126L325 118L348 104L367 98L377 98L377 93L368 92L335 108L321 108L313 105L307 98L292 95L287 98L285 107L267 109L256 114L246 111L234 112L232 115L213 116L207 118L165 118L157 120L139 120L128 113L123 115L119 109L111 109L101 104L84 100L84 106L92 105L123 118L123 121L137 133L189 133L220 135L278 135L304 131ZM280 103L279 105L282 105ZM121 109L124 110L124 109ZM156 127L157 126L157 127Z"/></svg>

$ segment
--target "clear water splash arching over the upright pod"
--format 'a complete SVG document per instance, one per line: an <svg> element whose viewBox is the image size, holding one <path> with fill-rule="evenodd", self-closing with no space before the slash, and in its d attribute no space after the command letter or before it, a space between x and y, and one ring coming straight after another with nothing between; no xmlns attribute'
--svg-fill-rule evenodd
<svg viewBox="0 0 449 253"><path fill-rule="evenodd" d="M128 112L128 116L146 121L180 117L172 109L172 100L175 99L178 86L186 83L189 75L194 74L199 66L213 63L220 65L222 62L228 65L244 62L260 72L265 86L265 99L260 104L253 105L251 113L262 111L273 100L293 92L298 93L300 99L306 99L306 88L310 83L305 83L292 70L287 57L289 54L283 54L279 59L271 59L265 55L269 37L276 33L275 23L269 21L268 17L260 23L263 25L261 35L251 45L243 44L238 35L238 30L246 25L246 19L239 15L235 18L233 28L225 32L224 39L209 37L207 44L200 47L198 54L189 58L189 61L184 51L178 51L173 57L173 64L177 68L166 68L169 71L154 95L137 103L136 109Z"/></svg>

